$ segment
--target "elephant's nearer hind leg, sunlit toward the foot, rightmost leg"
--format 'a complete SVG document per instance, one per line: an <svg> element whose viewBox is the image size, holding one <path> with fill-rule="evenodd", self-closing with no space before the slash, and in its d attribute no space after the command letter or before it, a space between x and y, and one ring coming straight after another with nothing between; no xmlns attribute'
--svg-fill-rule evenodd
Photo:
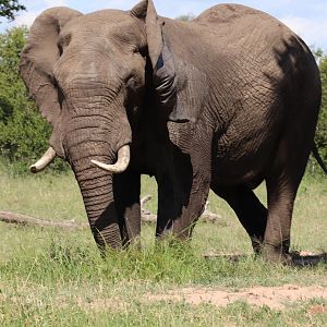
<svg viewBox="0 0 327 327"><path fill-rule="evenodd" d="M293 133L281 142L266 177L268 219L263 254L268 261L290 263L290 231L294 199L310 155L310 140Z"/></svg>

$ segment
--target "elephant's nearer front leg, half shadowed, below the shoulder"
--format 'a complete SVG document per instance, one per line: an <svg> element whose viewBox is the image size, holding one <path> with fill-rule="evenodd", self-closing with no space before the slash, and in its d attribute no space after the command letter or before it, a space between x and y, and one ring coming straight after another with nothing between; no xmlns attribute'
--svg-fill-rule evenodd
<svg viewBox="0 0 327 327"><path fill-rule="evenodd" d="M156 237L168 233L181 240L192 235L193 227L204 210L209 192L207 173L192 169L162 174L158 181L158 219Z"/></svg>

